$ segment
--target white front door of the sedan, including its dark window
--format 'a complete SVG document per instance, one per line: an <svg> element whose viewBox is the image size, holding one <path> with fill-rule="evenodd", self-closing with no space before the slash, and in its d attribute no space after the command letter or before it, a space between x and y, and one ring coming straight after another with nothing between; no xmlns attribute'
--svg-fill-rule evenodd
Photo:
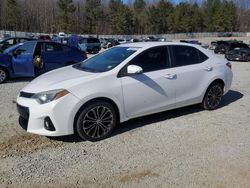
<svg viewBox="0 0 250 188"><path fill-rule="evenodd" d="M169 67L165 46L148 49L129 63L142 74L121 77L124 106L130 118L163 111L175 106L175 75ZM124 67L126 68L126 67Z"/></svg>

